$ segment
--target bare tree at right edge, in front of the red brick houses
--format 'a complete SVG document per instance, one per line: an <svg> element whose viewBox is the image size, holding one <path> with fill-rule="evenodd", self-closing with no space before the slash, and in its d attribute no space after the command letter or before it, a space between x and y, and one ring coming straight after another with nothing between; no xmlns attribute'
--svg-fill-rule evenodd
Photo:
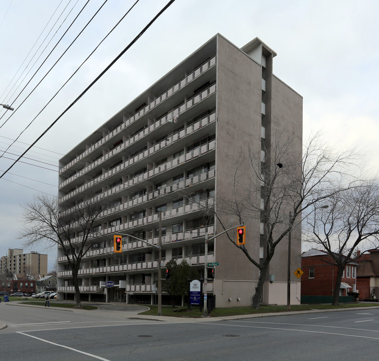
<svg viewBox="0 0 379 361"><path fill-rule="evenodd" d="M356 247L364 241L377 245L379 235L379 185L364 182L335 194L327 209L315 208L307 220L308 241L321 246L337 266L333 305L338 305L342 274ZM377 248L373 246L372 248ZM329 263L329 262L328 262Z"/></svg>

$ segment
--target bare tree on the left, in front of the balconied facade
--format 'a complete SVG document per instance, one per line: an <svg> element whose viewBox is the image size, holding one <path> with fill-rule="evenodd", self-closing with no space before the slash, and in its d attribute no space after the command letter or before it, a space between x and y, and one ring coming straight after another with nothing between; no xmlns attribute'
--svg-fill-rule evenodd
<svg viewBox="0 0 379 361"><path fill-rule="evenodd" d="M38 195L34 202L23 208L24 227L19 238L24 240L24 247L45 243L48 247L62 248L72 271L76 307L80 307L78 272L88 250L103 241L101 234L94 231L94 226L105 208L104 204L88 197L65 210L57 198Z"/></svg>

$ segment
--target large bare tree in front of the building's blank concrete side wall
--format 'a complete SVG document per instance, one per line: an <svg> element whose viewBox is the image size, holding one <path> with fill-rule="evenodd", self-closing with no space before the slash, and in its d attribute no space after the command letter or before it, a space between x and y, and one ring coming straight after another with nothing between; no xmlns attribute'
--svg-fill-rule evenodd
<svg viewBox="0 0 379 361"><path fill-rule="evenodd" d="M257 164L253 151L249 158L241 156L236 161L232 196L217 194L215 207L210 209L224 230L236 225L231 223L231 216L239 224L259 219L263 225L263 259L245 245L237 245L235 237L228 234L230 242L259 269L254 308L259 308L267 270L278 244L290 231L296 232L300 241L303 214L349 189L352 173L358 170L355 150L335 151L321 141L319 134L303 146L302 161L296 162L299 154L294 154L291 137L284 139L284 134L276 137L271 152L265 152L264 162Z"/></svg>

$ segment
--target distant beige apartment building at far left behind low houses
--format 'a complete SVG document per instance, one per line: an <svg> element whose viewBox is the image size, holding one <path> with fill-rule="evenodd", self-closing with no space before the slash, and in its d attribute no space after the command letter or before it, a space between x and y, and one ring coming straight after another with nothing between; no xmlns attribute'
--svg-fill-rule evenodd
<svg viewBox="0 0 379 361"><path fill-rule="evenodd" d="M0 258L0 272L11 271L13 274L43 275L48 272L48 255L32 251L24 253L23 249L8 249L8 256Z"/></svg>

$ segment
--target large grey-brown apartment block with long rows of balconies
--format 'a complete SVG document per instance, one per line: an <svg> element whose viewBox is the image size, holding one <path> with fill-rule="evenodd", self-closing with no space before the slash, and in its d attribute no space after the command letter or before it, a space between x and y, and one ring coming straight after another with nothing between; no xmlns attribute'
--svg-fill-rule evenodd
<svg viewBox="0 0 379 361"><path fill-rule="evenodd" d="M62 157L63 209L81 194L112 202L94 229L107 240L87 253L79 271L83 300L156 302L158 251L123 236L122 253L114 253L113 236L157 245L159 211L163 263L185 259L204 275L205 234L223 231L205 209L218 197L232 197L241 156L250 150L257 164L268 158L277 125L291 132L293 154L301 162L302 97L273 75L275 56L258 38L238 48L217 34ZM239 225L236 217L223 217ZM256 259L263 252L262 230L259 219L246 228L246 247ZM300 236L293 235L292 254L300 253ZM219 263L208 284L216 305L250 305L259 272L243 252L222 235L209 242L208 262ZM262 302L285 304L285 242L268 273ZM105 288L105 281L115 287ZM292 303L300 299L300 283L294 281ZM60 248L57 289L61 298L66 291L74 297Z"/></svg>

